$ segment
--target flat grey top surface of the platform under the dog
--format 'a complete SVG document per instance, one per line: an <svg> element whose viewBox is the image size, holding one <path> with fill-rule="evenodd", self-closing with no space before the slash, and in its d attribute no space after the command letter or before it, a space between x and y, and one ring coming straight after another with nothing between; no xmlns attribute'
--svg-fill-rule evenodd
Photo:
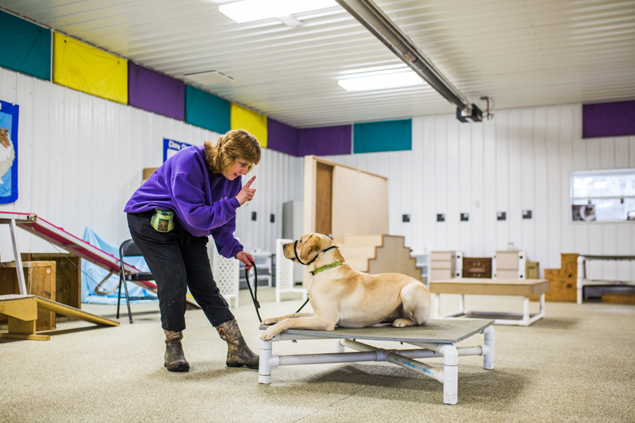
<svg viewBox="0 0 635 423"><path fill-rule="evenodd" d="M312 335L326 338L370 339L398 342L434 342L435 344L456 344L482 332L494 323L491 319L431 319L425 326L393 328L389 324L368 328L335 328L335 330L288 329L284 333ZM269 326L260 326L264 330Z"/></svg>

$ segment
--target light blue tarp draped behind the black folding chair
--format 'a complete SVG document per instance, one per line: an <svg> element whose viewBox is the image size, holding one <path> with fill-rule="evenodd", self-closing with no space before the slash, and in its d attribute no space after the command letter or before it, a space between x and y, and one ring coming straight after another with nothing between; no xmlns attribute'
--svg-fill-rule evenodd
<svg viewBox="0 0 635 423"><path fill-rule="evenodd" d="M90 245L99 248L100 250L114 255L114 257L119 258L119 246L110 245L105 242L103 239L99 238L95 232L89 227L84 229L84 236L82 239ZM128 257L124 260L126 263L137 267L142 272L149 272L148 265L145 264L145 260L143 257ZM92 304L117 304L117 292L119 290L115 290L109 295L97 295L95 293L95 286L97 286L102 279L108 276L108 271L99 267L96 264L92 264L88 260L81 260L81 302L87 302ZM105 281L100 290L111 290L115 286L119 285L119 272L110 276L110 278ZM121 295L123 296L123 287L121 290ZM141 286L135 285L134 283L128 283L128 295L130 297L151 297L155 296L154 292L145 290ZM131 301L132 302L132 301ZM122 301L125 304L125 300Z"/></svg>

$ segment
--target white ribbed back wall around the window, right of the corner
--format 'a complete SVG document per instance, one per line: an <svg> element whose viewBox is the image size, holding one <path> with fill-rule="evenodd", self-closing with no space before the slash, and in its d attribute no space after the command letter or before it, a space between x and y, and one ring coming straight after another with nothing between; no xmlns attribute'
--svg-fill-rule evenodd
<svg viewBox="0 0 635 423"><path fill-rule="evenodd" d="M418 117L412 151L329 159L388 177L391 234L415 252L491 257L512 242L541 272L560 267L560 253L635 255L634 223L571 222L570 171L635 168L635 137L582 139L581 105L498 111L479 124ZM523 220L523 210L533 218ZM497 211L507 220L497 221ZM437 213L446 221L436 222ZM594 270L635 280L635 263L592 262Z"/></svg>

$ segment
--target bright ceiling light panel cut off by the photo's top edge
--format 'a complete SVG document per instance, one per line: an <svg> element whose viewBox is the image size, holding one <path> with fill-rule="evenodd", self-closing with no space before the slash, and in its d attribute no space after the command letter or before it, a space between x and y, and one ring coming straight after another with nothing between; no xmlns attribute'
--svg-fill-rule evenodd
<svg viewBox="0 0 635 423"><path fill-rule="evenodd" d="M242 24L336 6L335 0L243 0L218 6L232 20Z"/></svg>

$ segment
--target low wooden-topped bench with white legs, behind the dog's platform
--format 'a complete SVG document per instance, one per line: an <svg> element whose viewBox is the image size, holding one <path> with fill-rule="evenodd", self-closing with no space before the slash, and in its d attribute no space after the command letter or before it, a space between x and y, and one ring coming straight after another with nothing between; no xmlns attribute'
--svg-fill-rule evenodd
<svg viewBox="0 0 635 423"><path fill-rule="evenodd" d="M430 292L435 293L434 317L474 317L495 318L497 325L529 326L531 323L545 316L545 292L549 291L547 279L485 279L485 278L456 278L430 282ZM439 316L441 309L441 294L459 294L458 311ZM519 295L523 297L523 313L502 313L466 311L465 295ZM540 295L540 311L529 313L529 297Z"/></svg>

